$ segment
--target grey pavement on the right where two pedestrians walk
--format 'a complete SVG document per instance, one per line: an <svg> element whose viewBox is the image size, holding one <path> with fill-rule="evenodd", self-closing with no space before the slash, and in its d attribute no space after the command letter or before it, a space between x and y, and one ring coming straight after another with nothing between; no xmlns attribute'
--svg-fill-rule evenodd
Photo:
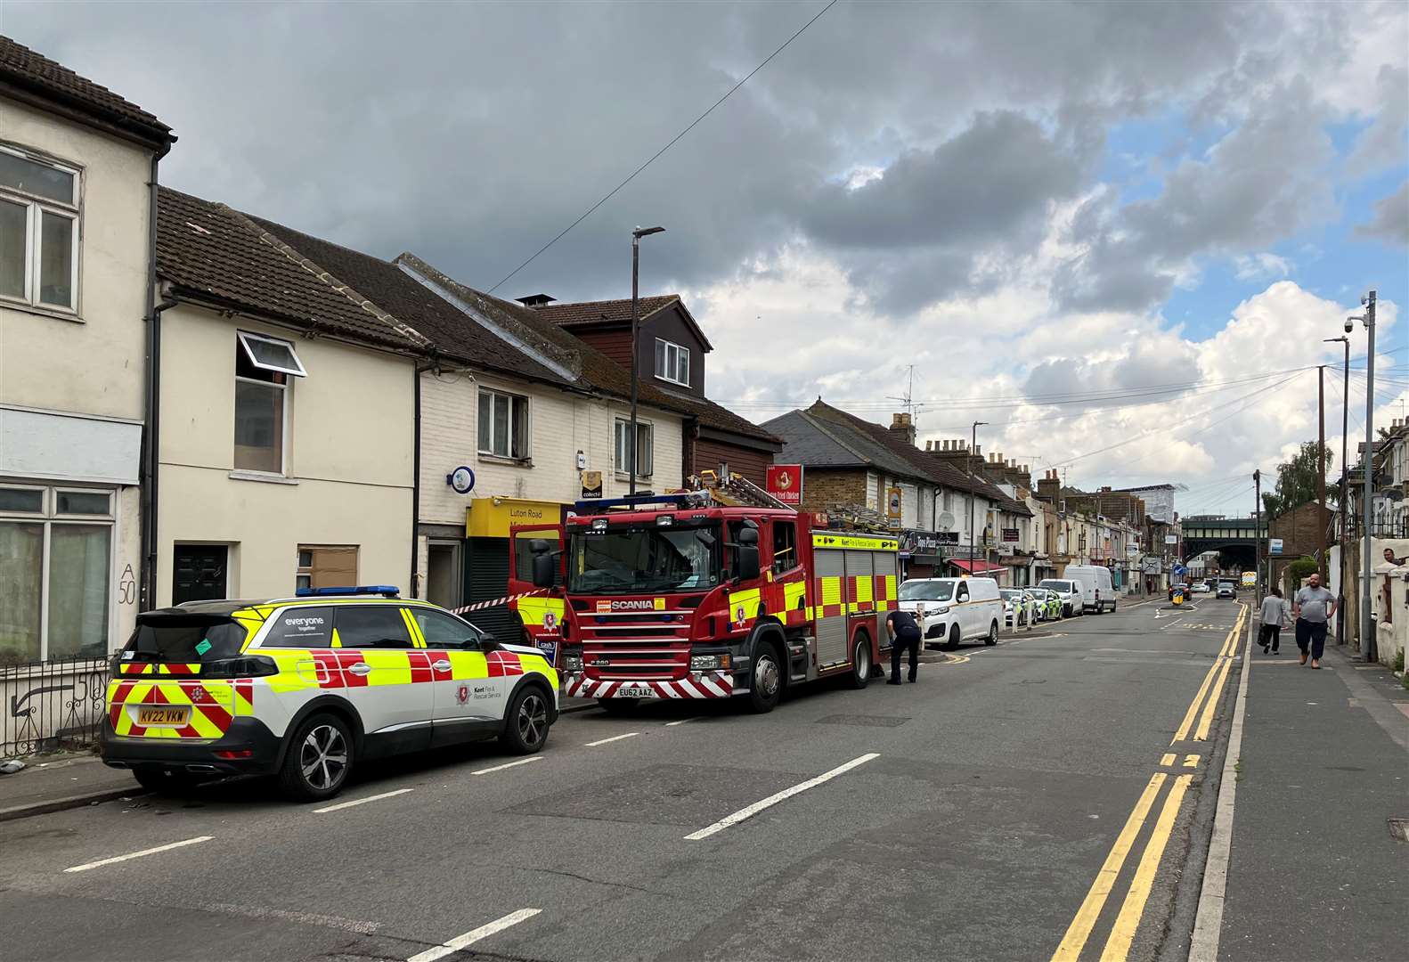
<svg viewBox="0 0 1409 962"><path fill-rule="evenodd" d="M1334 645L1303 668L1282 642L1250 666L1219 958L1403 959L1409 690Z"/></svg>

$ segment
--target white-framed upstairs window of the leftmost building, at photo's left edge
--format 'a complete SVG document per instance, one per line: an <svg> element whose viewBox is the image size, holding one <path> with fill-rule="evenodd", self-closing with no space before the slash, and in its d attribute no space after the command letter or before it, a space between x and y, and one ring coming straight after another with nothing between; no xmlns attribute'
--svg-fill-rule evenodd
<svg viewBox="0 0 1409 962"><path fill-rule="evenodd" d="M0 299L77 311L79 170L0 146Z"/></svg>

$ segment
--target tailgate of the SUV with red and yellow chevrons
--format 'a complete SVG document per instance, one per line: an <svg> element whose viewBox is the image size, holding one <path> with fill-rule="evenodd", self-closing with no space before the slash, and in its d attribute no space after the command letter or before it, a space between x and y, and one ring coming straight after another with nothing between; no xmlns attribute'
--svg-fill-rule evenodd
<svg viewBox="0 0 1409 962"><path fill-rule="evenodd" d="M113 659L107 713L120 738L213 741L248 711L237 677L248 631L228 614L148 611ZM245 686L242 692L238 686ZM237 694L244 694L237 703Z"/></svg>

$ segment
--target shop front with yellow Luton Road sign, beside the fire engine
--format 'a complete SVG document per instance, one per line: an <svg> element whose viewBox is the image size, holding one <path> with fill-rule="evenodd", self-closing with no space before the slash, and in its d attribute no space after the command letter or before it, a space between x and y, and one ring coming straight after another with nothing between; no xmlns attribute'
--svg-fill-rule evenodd
<svg viewBox="0 0 1409 962"><path fill-rule="evenodd" d="M509 594L509 558L517 556L520 570L528 569L530 542L551 532L520 532L510 542L510 528L562 524L572 507L561 501L530 501L517 497L476 497L465 508L465 542L461 563L462 604L497 601ZM504 604L493 604L466 616L475 625L492 631L500 641L519 641L517 616Z"/></svg>

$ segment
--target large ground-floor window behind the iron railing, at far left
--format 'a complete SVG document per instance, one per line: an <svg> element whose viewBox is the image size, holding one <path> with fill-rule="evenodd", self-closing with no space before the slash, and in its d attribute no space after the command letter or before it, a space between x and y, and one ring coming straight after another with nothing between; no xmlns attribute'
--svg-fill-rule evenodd
<svg viewBox="0 0 1409 962"><path fill-rule="evenodd" d="M111 517L110 492L0 487L0 663L108 654Z"/></svg>

